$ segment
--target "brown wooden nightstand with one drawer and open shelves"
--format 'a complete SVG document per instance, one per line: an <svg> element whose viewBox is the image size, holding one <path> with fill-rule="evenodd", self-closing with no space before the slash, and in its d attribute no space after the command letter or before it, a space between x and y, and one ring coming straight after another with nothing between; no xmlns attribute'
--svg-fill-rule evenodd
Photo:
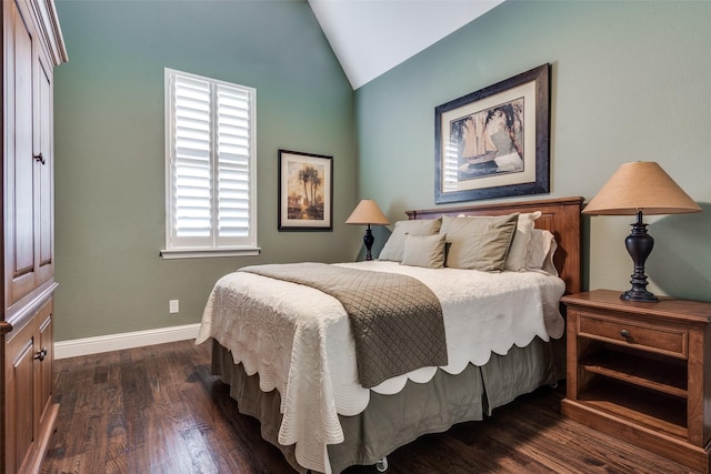
<svg viewBox="0 0 711 474"><path fill-rule="evenodd" d="M568 381L561 411L680 464L710 472L711 303L564 296Z"/></svg>

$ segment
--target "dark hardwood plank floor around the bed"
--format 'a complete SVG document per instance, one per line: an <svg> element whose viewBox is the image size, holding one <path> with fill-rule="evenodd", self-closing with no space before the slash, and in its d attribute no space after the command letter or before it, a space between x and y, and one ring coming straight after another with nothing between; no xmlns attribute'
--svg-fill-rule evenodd
<svg viewBox="0 0 711 474"><path fill-rule="evenodd" d="M293 473L210 375L191 341L56 361L60 412L43 473ZM483 422L422 436L388 456L392 474L688 473L560 416L543 387ZM375 473L353 466L347 474Z"/></svg>

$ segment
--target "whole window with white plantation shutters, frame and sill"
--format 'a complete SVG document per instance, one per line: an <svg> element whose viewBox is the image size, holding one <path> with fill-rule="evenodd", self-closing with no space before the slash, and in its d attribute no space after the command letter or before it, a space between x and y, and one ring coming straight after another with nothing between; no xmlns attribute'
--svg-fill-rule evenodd
<svg viewBox="0 0 711 474"><path fill-rule="evenodd" d="M164 259L256 255L256 91L166 69Z"/></svg>

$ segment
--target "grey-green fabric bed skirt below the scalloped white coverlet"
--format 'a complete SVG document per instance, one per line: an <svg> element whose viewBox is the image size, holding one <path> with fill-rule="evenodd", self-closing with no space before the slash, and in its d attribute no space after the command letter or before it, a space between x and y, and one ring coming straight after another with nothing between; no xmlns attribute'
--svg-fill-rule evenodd
<svg viewBox="0 0 711 474"><path fill-rule="evenodd" d="M394 395L372 392L362 413L339 416L346 440L328 446L331 470L340 473L351 465L375 464L423 434L483 420L497 406L523 393L558 383L564 376L564 341L545 343L535 337L523 349L513 346L505 356L492 354L481 367L470 364L458 375L440 370L430 382L409 381ZM306 473L296 461L294 446L277 441L281 425L279 392L262 392L259 375L247 375L242 364L236 365L229 351L214 340L212 373L230 385L240 413L259 420L262 437L279 447L294 470Z"/></svg>

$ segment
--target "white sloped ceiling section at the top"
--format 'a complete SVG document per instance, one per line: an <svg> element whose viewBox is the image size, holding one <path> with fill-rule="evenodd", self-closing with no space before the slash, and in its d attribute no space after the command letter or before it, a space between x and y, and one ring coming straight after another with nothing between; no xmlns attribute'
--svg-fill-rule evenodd
<svg viewBox="0 0 711 474"><path fill-rule="evenodd" d="M309 0L353 89L503 0Z"/></svg>

